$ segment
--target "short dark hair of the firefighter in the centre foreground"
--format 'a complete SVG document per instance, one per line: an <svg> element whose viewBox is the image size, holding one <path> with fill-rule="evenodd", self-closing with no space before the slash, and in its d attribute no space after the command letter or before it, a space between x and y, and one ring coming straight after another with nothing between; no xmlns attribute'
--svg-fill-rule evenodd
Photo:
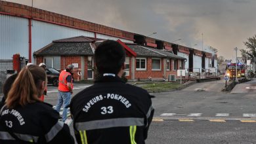
<svg viewBox="0 0 256 144"><path fill-rule="evenodd" d="M125 49L118 42L107 40L95 50L95 64L98 74L117 74L125 62Z"/></svg>

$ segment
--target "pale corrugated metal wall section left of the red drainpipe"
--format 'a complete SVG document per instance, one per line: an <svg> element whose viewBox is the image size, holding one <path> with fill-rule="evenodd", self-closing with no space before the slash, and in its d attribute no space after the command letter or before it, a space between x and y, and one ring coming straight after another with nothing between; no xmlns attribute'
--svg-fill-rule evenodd
<svg viewBox="0 0 256 144"><path fill-rule="evenodd" d="M0 14L0 59L28 58L28 19Z"/></svg>

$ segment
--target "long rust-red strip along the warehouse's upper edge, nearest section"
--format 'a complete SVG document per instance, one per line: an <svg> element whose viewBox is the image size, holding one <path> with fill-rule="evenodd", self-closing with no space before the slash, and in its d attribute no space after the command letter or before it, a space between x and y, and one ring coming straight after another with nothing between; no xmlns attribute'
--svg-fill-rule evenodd
<svg viewBox="0 0 256 144"><path fill-rule="evenodd" d="M33 18L34 20L42 20L45 22L52 22L56 24L63 24L64 26L75 27L77 29L84 29L87 31L94 31L106 35L114 35L124 39L133 39L133 33L122 31L113 27L103 26L85 20L79 20L70 16L56 14L47 10L32 8L18 3L11 3L7 1L0 1L0 13L8 13L14 16L25 18Z"/></svg>

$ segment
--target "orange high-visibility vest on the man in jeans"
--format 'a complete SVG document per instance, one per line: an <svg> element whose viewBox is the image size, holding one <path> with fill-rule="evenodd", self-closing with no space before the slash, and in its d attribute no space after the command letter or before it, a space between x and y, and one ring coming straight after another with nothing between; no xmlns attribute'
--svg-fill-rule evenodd
<svg viewBox="0 0 256 144"><path fill-rule="evenodd" d="M66 80L68 75L71 75L71 73L69 73L67 71L62 71L60 73L60 77L58 77L58 90L60 90L61 92L70 92L70 90L68 89L68 82ZM73 89L72 81L73 80L71 79L71 88Z"/></svg>

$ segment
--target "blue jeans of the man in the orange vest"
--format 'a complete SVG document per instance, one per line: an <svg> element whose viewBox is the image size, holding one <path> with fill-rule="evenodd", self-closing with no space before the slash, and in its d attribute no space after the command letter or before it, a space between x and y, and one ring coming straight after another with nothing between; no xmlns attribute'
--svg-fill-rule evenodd
<svg viewBox="0 0 256 144"><path fill-rule="evenodd" d="M56 104L55 110L60 113L60 107L63 104L63 113L62 113L62 121L65 122L68 115L67 105L70 104L71 93L70 92L60 92L58 91L58 102Z"/></svg>

